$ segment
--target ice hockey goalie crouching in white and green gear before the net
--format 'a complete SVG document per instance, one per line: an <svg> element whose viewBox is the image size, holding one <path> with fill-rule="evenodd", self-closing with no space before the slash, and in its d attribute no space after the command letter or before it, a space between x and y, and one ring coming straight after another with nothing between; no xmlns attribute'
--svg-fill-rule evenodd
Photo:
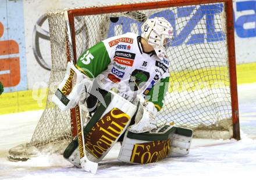
<svg viewBox="0 0 256 180"><path fill-rule="evenodd" d="M159 127L155 119L168 89L170 63L165 49L173 38L172 25L155 17L145 21L141 32L105 39L84 50L77 64L67 64L52 101L62 111L79 103L87 106L90 120L83 127L84 139L74 138L64 153L77 167L81 148L88 160L98 163L118 141L122 142L118 159L127 163L152 163L189 153L192 130Z"/></svg>

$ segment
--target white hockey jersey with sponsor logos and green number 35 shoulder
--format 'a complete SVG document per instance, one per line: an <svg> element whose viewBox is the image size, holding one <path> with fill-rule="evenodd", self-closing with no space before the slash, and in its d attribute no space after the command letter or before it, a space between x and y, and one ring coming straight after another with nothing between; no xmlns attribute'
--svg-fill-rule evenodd
<svg viewBox="0 0 256 180"><path fill-rule="evenodd" d="M131 98L148 95L161 79L169 82L169 61L160 60L155 52L144 53L140 40L141 36L131 32L105 39L81 54L77 66L86 68L83 72L90 78L96 77L101 89L115 87Z"/></svg>

